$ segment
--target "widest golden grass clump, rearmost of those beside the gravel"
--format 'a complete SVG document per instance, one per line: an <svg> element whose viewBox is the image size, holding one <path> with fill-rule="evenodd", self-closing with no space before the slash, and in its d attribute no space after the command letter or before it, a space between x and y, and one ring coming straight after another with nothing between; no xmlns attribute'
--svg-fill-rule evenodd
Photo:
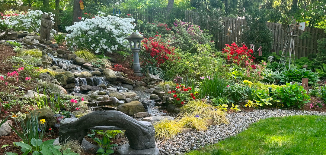
<svg viewBox="0 0 326 155"><path fill-rule="evenodd" d="M190 113L195 115L199 114L207 118L212 118L214 124L229 123L229 120L226 118L225 112L223 112L219 107L214 107L210 104L207 104L207 101L189 101L180 109L182 113Z"/></svg>

